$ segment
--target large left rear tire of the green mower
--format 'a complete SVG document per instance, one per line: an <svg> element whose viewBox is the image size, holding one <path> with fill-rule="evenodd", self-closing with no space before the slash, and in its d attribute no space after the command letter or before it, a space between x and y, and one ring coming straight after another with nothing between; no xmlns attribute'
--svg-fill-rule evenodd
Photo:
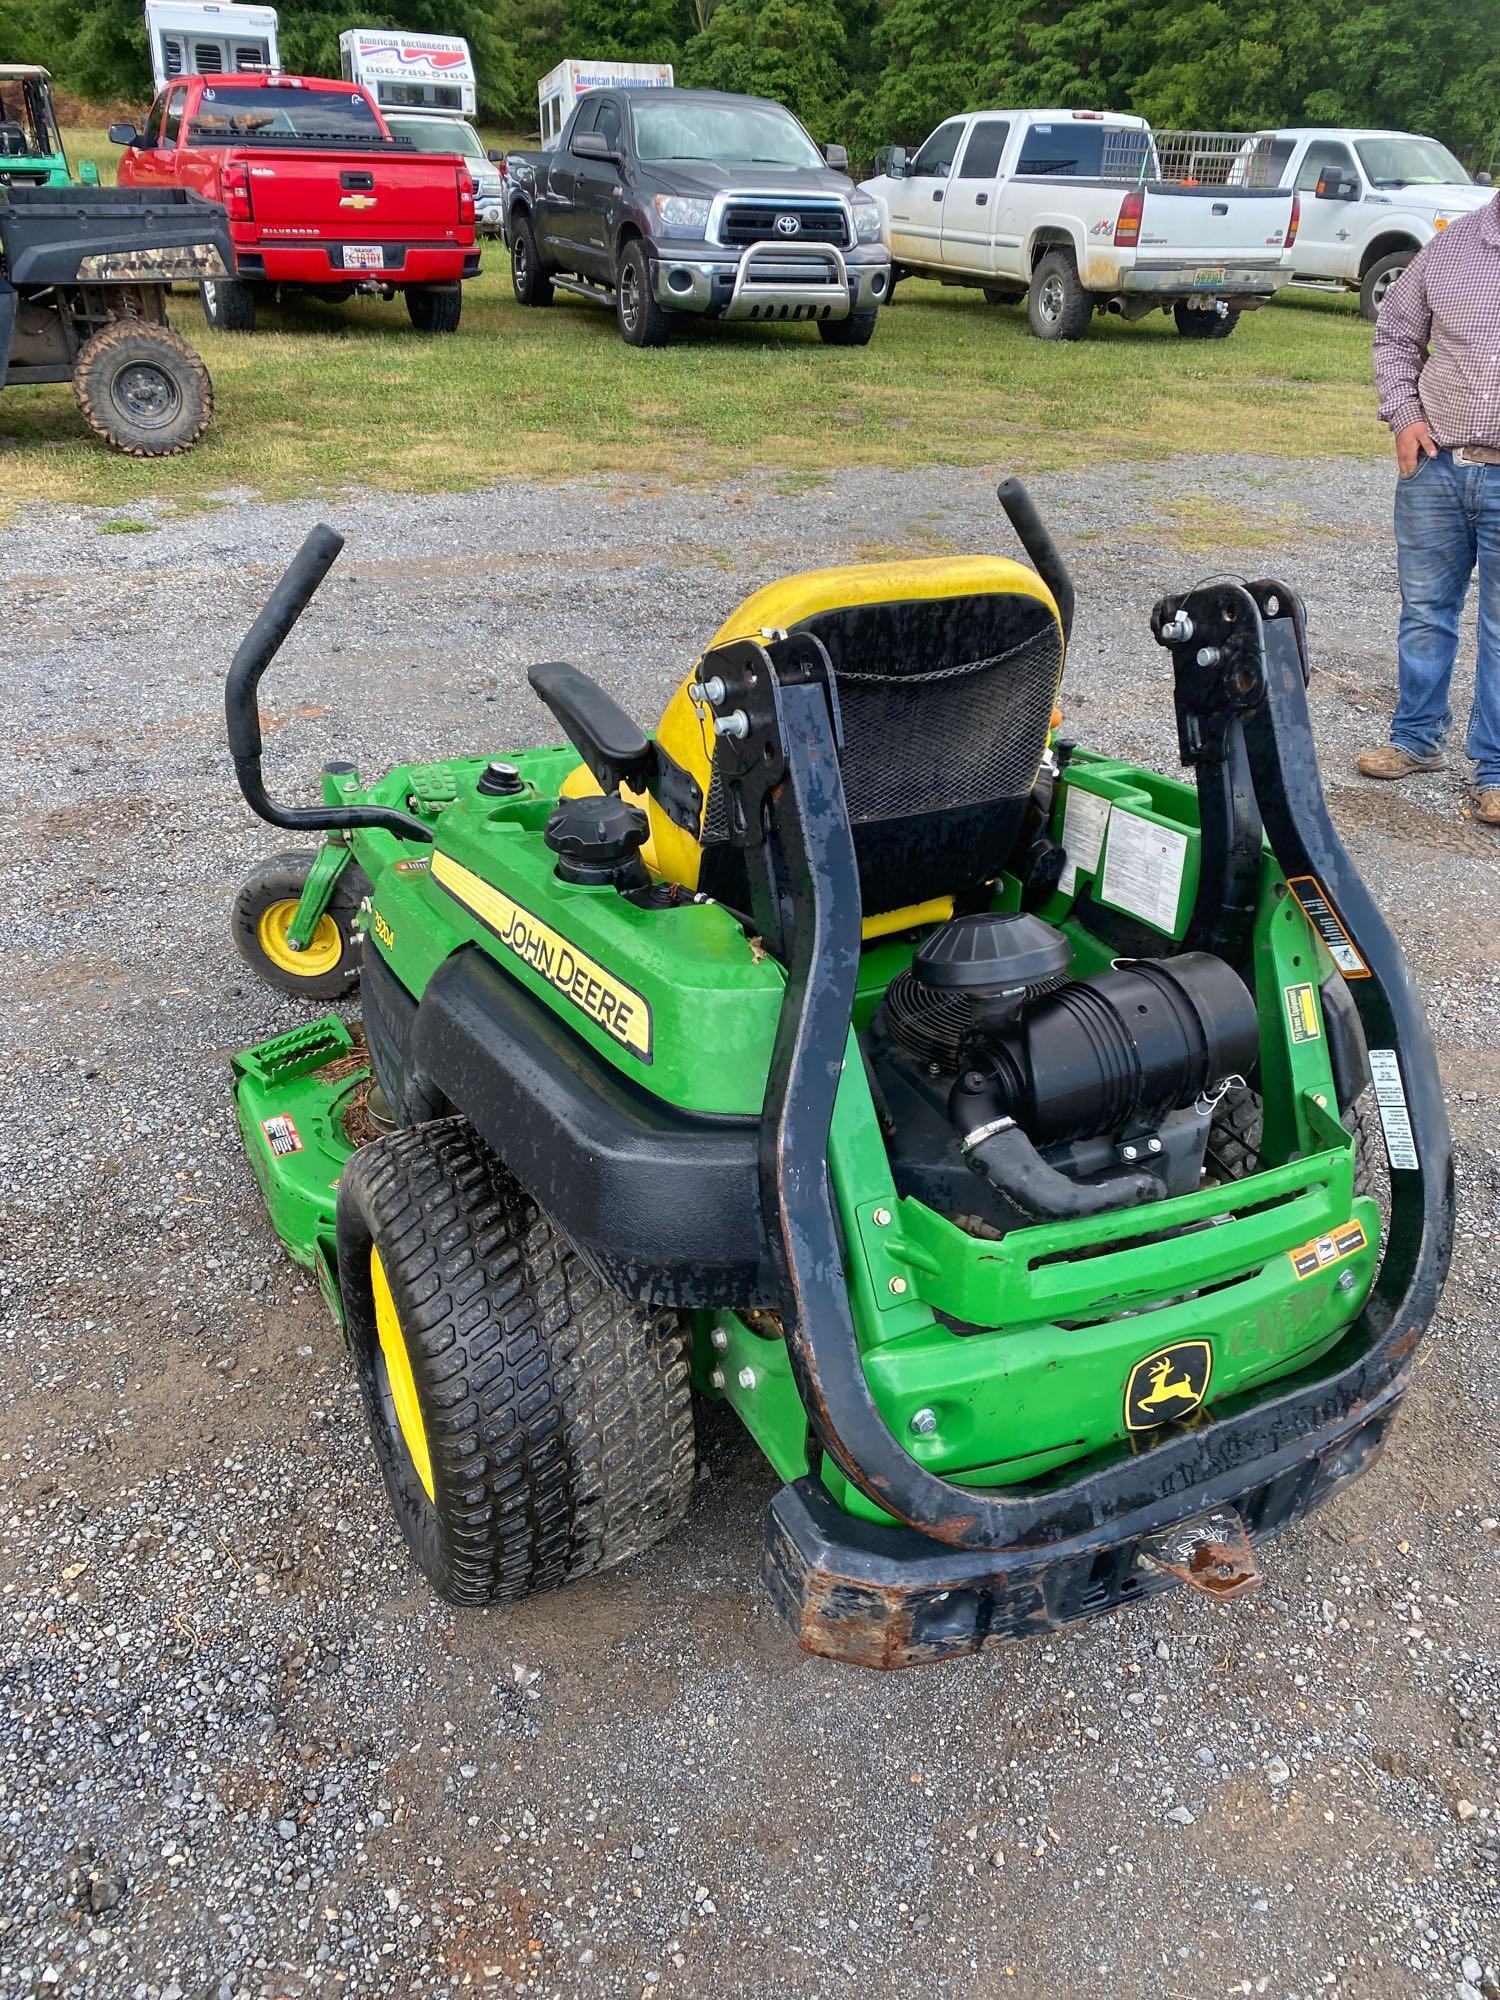
<svg viewBox="0 0 1500 2000"><path fill-rule="evenodd" d="M432 1496L396 1416L376 1250ZM464 1118L376 1140L338 1184L338 1268L380 1472L450 1604L514 1602L668 1534L694 1484L678 1314L596 1278Z"/></svg>

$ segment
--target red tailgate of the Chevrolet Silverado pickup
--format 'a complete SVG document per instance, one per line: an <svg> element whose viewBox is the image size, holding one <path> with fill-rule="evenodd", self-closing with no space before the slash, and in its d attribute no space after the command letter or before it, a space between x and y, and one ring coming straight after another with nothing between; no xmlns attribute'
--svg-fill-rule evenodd
<svg viewBox="0 0 1500 2000"><path fill-rule="evenodd" d="M434 154L240 154L256 232L290 242L452 242L458 168Z"/></svg>

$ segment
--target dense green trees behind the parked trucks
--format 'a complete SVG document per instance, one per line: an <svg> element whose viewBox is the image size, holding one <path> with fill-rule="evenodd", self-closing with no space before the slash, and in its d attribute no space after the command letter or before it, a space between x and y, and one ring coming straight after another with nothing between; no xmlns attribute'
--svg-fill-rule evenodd
<svg viewBox="0 0 1500 2000"><path fill-rule="evenodd" d="M1056 104L1160 126L1430 132L1490 166L1500 0L282 0L282 60L338 74L342 28L462 34L490 124L536 124L564 56L672 62L780 98L868 162L954 110ZM0 60L102 104L150 90L140 0L0 0Z"/></svg>

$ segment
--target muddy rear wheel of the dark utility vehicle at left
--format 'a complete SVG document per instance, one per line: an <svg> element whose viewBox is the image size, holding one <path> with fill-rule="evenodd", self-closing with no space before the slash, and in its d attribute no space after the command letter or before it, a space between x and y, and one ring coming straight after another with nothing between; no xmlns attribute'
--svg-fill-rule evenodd
<svg viewBox="0 0 1500 2000"><path fill-rule="evenodd" d="M88 426L126 458L176 458L214 418L194 350L154 320L110 320L78 350L72 392Z"/></svg>

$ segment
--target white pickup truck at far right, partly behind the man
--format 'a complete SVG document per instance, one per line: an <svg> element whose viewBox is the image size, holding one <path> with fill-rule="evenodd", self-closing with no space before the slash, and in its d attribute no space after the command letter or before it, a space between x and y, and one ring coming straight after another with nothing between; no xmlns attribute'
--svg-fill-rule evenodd
<svg viewBox="0 0 1500 2000"><path fill-rule="evenodd" d="M1446 146L1416 132L1300 126L1262 134L1282 188L1302 196L1296 284L1360 294L1374 320L1386 290L1438 230L1494 196Z"/></svg>

